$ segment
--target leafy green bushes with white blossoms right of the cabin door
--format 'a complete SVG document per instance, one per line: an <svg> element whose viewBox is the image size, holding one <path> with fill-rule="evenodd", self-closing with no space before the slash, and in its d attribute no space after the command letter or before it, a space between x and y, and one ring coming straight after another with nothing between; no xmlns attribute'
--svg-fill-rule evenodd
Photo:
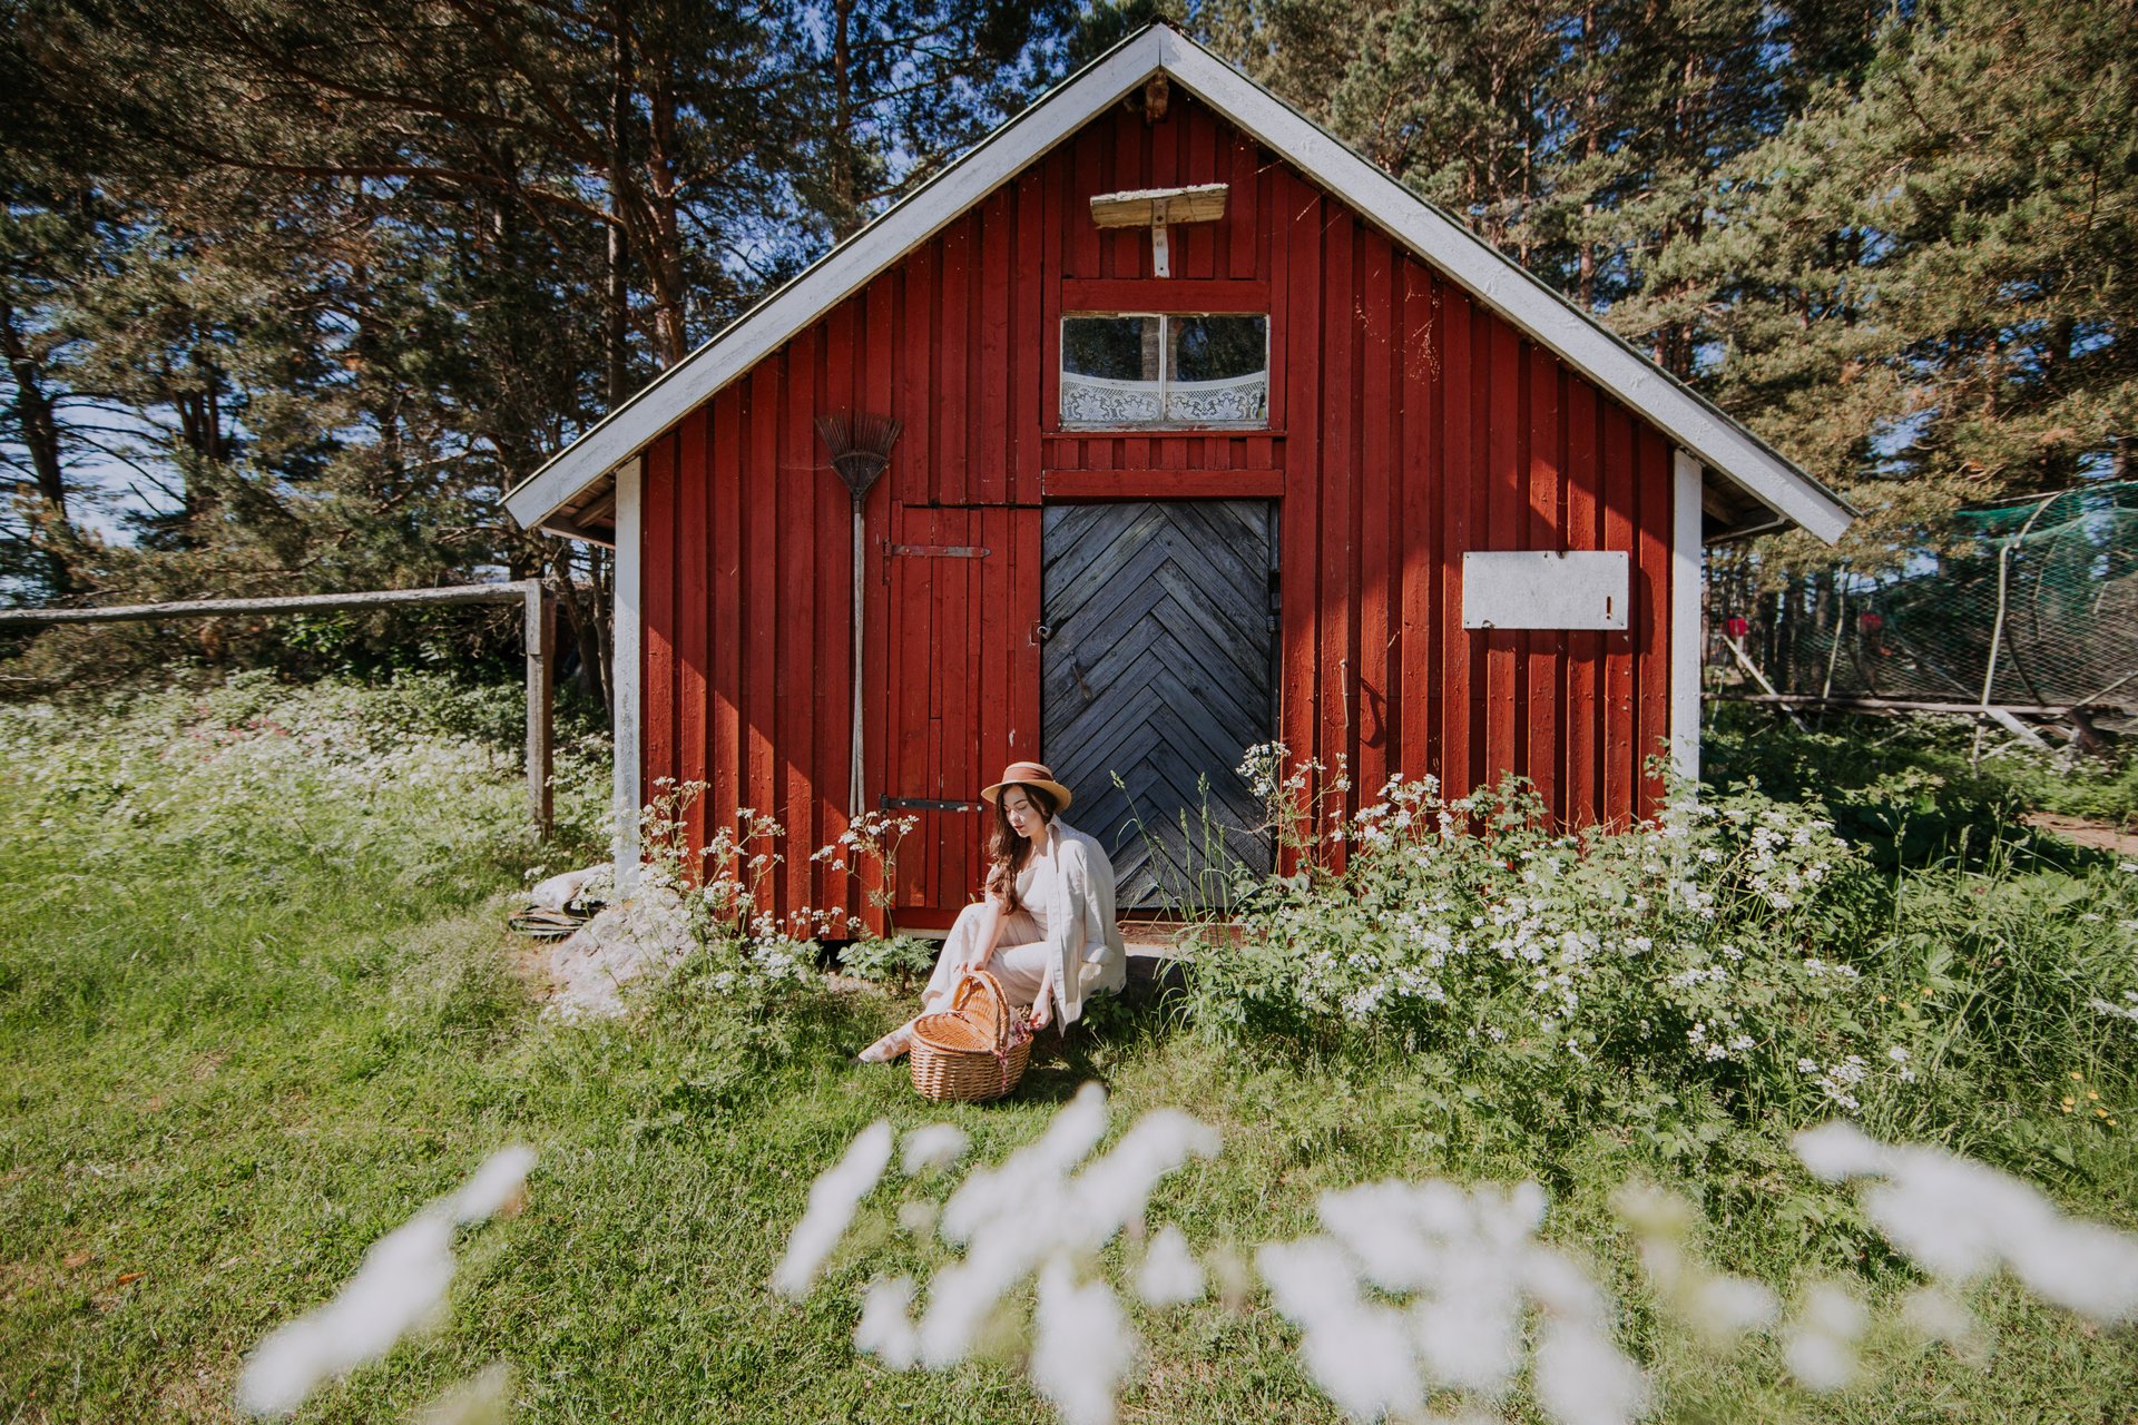
<svg viewBox="0 0 2138 1425"><path fill-rule="evenodd" d="M1546 831L1518 784L1443 803L1392 780L1308 837L1304 778L1266 754L1300 870L1244 880L1197 929L1191 1023L1400 1045L1537 1132L1847 1113L2029 1160L2005 1115L2114 1060L2114 1006L2138 1002L2138 878L2023 874L2042 861L2001 803L1946 803L1920 769L1837 780L1832 814L1738 786L1584 835ZM1881 874L1843 818L1884 831L1886 872L1956 855Z"/></svg>

